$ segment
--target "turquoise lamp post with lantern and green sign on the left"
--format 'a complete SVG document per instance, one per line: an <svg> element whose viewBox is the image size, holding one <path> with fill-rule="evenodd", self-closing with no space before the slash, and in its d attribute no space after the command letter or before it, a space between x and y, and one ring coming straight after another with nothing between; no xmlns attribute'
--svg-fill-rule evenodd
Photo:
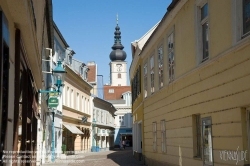
<svg viewBox="0 0 250 166"><path fill-rule="evenodd" d="M54 70L52 70L52 75L54 77L55 86L57 90L39 90L39 93L61 93L60 88L63 86L64 78L65 78L66 71L62 67L62 62L58 61L57 66ZM54 108L58 106L58 99L57 97L53 97L49 99L48 106L50 108ZM54 109L52 111L52 154L51 154L51 161L55 161L55 127L54 127L54 118L55 112Z"/></svg>

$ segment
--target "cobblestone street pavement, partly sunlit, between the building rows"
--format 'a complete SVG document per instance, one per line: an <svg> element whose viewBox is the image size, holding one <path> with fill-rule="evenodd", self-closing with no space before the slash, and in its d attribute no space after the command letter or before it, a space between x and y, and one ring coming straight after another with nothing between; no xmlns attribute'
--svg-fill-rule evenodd
<svg viewBox="0 0 250 166"><path fill-rule="evenodd" d="M88 152L69 155L67 158L56 159L56 163L46 163L42 166L143 166L144 164L133 157L131 147L125 150L104 152Z"/></svg>

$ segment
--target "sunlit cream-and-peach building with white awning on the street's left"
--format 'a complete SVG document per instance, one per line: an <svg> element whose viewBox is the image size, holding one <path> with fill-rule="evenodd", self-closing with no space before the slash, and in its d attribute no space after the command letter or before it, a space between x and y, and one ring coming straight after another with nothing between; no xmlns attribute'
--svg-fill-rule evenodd
<svg viewBox="0 0 250 166"><path fill-rule="evenodd" d="M63 96L63 140L66 153L91 150L92 86L66 65ZM83 122L83 118L86 119Z"/></svg>

